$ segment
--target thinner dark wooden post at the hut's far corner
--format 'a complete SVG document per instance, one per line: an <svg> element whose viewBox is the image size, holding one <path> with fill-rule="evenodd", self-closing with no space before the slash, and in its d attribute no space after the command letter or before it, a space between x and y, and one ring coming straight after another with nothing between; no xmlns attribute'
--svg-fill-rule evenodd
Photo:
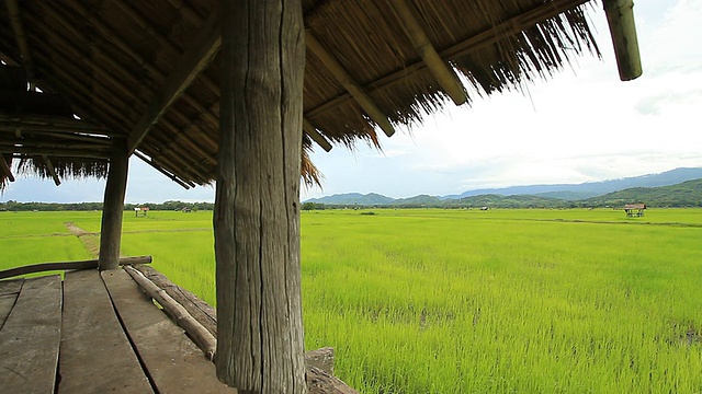
<svg viewBox="0 0 702 394"><path fill-rule="evenodd" d="M128 164L129 157L126 138L113 138L100 229L98 268L101 270L116 269L120 264L122 215L124 213L124 195L127 189Z"/></svg>

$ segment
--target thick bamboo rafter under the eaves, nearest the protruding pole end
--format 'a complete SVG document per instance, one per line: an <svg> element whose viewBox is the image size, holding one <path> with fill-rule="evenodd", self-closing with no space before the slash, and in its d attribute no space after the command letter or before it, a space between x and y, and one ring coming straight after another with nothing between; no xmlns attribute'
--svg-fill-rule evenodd
<svg viewBox="0 0 702 394"><path fill-rule="evenodd" d="M395 0L388 2L393 9L395 16L400 22L407 37L411 42L415 50L424 60L427 67L437 79L444 92L453 100L456 105L464 104L468 101L468 95L463 88L463 83L454 70L441 59L441 56L434 49L429 40L427 33L421 27L419 20L409 9L407 0Z"/></svg>

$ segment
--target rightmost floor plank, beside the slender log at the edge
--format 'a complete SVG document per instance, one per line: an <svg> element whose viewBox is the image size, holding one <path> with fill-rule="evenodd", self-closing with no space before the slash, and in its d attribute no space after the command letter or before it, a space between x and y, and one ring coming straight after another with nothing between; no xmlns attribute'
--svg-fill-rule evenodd
<svg viewBox="0 0 702 394"><path fill-rule="evenodd" d="M215 366L122 269L102 271L114 306L160 393L236 393Z"/></svg>

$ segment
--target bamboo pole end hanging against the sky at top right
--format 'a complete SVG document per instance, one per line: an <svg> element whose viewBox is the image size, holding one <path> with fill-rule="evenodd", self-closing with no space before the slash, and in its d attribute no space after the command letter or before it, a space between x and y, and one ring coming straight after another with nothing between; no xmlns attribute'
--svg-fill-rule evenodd
<svg viewBox="0 0 702 394"><path fill-rule="evenodd" d="M619 78L622 81L631 81L641 77L643 70L638 53L636 23L634 22L633 0L604 0L604 12L614 45Z"/></svg>

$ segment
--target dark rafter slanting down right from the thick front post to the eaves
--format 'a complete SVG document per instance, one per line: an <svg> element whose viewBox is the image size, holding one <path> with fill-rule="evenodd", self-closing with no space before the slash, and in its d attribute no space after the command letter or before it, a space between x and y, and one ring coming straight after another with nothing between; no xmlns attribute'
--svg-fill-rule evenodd
<svg viewBox="0 0 702 394"><path fill-rule="evenodd" d="M381 108L375 104L373 99L365 92L365 90L353 80L351 74L341 66L339 60L335 58L321 43L315 37L312 31L307 30L305 34L307 42L307 48L317 56L317 58L325 65L325 67L331 72L331 74L341 83L341 85L351 94L351 96L361 105L361 107L367 113L367 115L377 124L387 137L395 134L395 128L390 125L387 116L383 114Z"/></svg>

